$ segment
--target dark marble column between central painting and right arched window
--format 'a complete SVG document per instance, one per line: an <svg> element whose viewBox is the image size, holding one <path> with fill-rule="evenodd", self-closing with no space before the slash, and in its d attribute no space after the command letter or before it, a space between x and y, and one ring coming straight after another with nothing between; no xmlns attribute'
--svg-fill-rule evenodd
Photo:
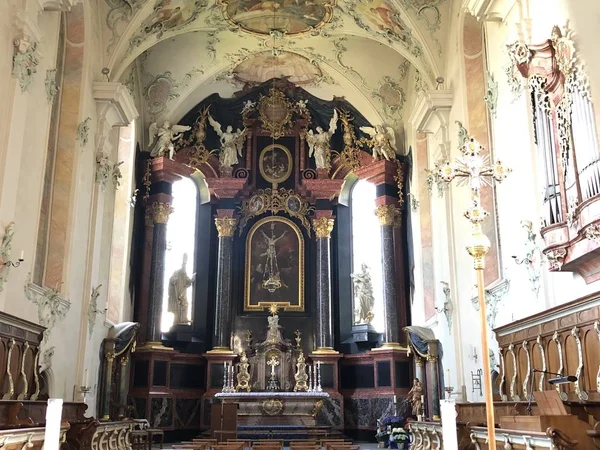
<svg viewBox="0 0 600 450"><path fill-rule="evenodd" d="M316 217L312 223L317 238L317 329L314 353L337 353L333 349L330 242L335 222L331 217Z"/></svg>

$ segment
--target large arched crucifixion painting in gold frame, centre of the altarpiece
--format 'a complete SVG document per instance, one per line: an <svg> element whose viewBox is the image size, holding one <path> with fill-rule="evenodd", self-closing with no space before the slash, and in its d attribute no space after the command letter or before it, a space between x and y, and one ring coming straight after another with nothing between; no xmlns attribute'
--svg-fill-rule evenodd
<svg viewBox="0 0 600 450"><path fill-rule="evenodd" d="M281 216L256 222L246 238L244 311L276 304L284 311L304 311L304 237Z"/></svg>

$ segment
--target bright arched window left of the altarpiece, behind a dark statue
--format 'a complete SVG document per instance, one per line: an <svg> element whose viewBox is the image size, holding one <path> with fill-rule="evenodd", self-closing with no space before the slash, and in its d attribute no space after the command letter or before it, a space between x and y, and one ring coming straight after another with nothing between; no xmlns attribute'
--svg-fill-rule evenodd
<svg viewBox="0 0 600 450"><path fill-rule="evenodd" d="M196 214L198 189L190 178L173 183L173 213L167 223L167 252L165 256L165 281L161 331L169 331L173 325L173 314L168 312L169 280L173 272L181 269L184 254L187 254L186 272L192 278L195 273ZM188 317L192 317L194 283L187 289Z"/></svg>

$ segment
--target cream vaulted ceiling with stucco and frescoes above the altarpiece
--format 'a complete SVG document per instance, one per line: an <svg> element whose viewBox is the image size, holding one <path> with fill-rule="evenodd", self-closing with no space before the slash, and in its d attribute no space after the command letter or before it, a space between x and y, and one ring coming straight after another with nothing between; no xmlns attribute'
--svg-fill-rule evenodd
<svg viewBox="0 0 600 450"><path fill-rule="evenodd" d="M100 0L105 65L146 124L287 76L401 132L434 84L452 0Z"/></svg>

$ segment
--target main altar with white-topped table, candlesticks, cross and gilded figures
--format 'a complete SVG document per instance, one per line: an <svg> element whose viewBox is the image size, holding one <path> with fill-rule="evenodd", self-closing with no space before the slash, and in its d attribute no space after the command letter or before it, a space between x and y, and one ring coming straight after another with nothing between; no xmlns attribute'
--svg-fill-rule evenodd
<svg viewBox="0 0 600 450"><path fill-rule="evenodd" d="M284 339L277 310L277 304L271 305L264 341L252 344L248 336L238 360L223 363L223 389L214 397L238 405L242 426L314 427L323 400L329 398L321 386L321 364L306 360L300 331L294 344Z"/></svg>

